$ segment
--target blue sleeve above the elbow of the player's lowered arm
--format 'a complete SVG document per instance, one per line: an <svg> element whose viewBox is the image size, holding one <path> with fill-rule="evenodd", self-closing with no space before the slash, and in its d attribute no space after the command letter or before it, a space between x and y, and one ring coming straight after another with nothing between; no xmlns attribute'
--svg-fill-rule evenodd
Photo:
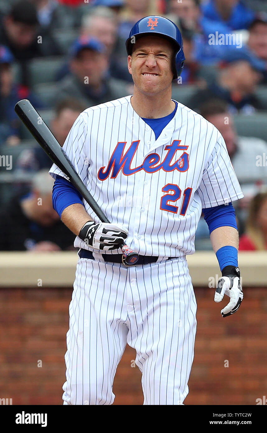
<svg viewBox="0 0 267 433"><path fill-rule="evenodd" d="M209 234L218 227L230 226L237 229L235 209L232 203L203 209L204 220L208 224Z"/></svg>

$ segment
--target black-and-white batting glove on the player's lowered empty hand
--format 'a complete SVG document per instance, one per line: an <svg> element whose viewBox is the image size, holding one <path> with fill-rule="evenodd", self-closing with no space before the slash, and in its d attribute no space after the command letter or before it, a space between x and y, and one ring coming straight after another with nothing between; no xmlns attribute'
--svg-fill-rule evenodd
<svg viewBox="0 0 267 433"><path fill-rule="evenodd" d="M240 270L235 266L225 266L222 269L222 278L218 281L214 301L221 302L224 295L230 297L230 302L221 310L222 317L234 314L243 300L243 291L240 284Z"/></svg>

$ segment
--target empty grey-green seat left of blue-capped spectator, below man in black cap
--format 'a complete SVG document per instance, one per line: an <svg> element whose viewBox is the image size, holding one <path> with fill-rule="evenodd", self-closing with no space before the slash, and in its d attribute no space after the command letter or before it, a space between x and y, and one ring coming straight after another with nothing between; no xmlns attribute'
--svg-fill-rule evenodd
<svg viewBox="0 0 267 433"><path fill-rule="evenodd" d="M63 57L35 58L29 62L29 74L32 86L55 81L55 76L64 64Z"/></svg>

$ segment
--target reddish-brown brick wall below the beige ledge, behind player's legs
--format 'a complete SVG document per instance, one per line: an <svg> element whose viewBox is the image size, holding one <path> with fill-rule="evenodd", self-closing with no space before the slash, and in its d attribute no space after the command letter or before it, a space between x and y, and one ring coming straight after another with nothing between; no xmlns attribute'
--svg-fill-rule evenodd
<svg viewBox="0 0 267 433"><path fill-rule="evenodd" d="M198 325L186 404L254 405L267 395L267 288L244 292L238 313L222 319L214 290L195 288ZM0 289L0 398L62 404L70 300L66 288ZM135 351L127 346L114 404L143 402L141 373L132 359Z"/></svg>

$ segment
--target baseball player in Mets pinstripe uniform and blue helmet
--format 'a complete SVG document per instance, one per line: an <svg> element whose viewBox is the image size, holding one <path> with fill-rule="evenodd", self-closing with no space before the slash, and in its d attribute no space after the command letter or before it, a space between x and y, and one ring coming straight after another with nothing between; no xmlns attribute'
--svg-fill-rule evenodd
<svg viewBox="0 0 267 433"><path fill-rule="evenodd" d="M193 362L196 299L187 266L202 213L222 278L215 298L243 299L233 200L243 197L219 131L171 99L183 70L177 26L136 23L126 41L134 94L84 110L63 149L110 223L101 223L55 165L53 205L77 237L64 404L113 404L126 343L135 348L144 404L183 404ZM139 253L122 264L127 238Z"/></svg>

